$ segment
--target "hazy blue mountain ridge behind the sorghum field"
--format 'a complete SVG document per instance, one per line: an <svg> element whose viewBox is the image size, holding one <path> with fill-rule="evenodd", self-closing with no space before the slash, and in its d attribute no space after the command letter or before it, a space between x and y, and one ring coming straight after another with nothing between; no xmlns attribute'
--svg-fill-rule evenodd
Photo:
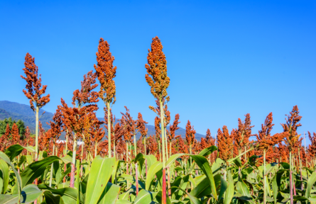
<svg viewBox="0 0 316 204"><path fill-rule="evenodd" d="M39 115L42 115L45 111L43 109L40 110ZM4 120L4 118L12 118L13 120L23 120L24 124L30 128L31 132L35 132L35 122L36 118L35 115L28 105L11 102L11 101L0 101L0 120ZM104 118L98 118L99 120L104 120ZM53 113L45 112L40 117L40 122L43 124L43 128L45 130L48 130L50 128L48 123L50 120L53 120ZM118 123L119 121L116 120L115 123ZM148 128L148 135L155 135L155 126L153 125L146 125L146 128ZM107 130L105 130L107 132ZM107 133L106 133L107 134ZM180 128L179 130L175 131L175 135L181 135L182 137L185 137L185 129ZM141 137L141 134L138 132L136 135L137 139ZM201 134L195 134L195 138L197 140L200 140L201 137L205 137L205 135ZM60 139L62 140L65 138L65 135L62 134L60 136Z"/></svg>

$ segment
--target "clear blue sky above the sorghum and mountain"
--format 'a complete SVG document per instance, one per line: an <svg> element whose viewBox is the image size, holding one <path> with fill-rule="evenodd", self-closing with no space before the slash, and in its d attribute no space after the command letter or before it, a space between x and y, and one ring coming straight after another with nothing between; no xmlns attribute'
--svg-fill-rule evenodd
<svg viewBox="0 0 316 204"><path fill-rule="evenodd" d="M116 118L127 106L153 124L144 66L158 35L182 128L190 120L214 136L250 113L256 133L273 112L275 133L298 105L299 132L316 132L316 1L0 1L0 19L0 100L28 104L20 75L30 52L51 96L43 109L70 103L102 37L118 67Z"/></svg>

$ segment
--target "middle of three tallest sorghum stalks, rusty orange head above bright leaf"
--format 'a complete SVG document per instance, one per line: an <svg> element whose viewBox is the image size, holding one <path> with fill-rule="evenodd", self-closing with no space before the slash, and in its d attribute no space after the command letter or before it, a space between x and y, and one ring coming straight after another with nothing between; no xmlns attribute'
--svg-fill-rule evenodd
<svg viewBox="0 0 316 204"><path fill-rule="evenodd" d="M94 64L94 69L97 72L97 77L101 84L99 91L99 98L102 98L107 106L107 137L109 141L109 157L111 157L111 103L116 101L116 88L114 77L116 76L116 67L113 66L114 57L109 51L109 43L103 38L99 40L97 52L97 65Z"/></svg>

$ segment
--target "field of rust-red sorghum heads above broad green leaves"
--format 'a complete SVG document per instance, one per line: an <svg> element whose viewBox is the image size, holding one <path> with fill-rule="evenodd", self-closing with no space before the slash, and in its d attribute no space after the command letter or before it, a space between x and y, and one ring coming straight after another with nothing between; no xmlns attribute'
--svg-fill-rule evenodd
<svg viewBox="0 0 316 204"><path fill-rule="evenodd" d="M145 65L156 98L149 108L157 114L156 135L148 135L141 113L132 118L126 107L114 125L114 57L102 38L97 49L94 70L69 96L72 104L61 98L48 131L38 113L50 95L34 58L26 54L21 77L35 113L36 137L27 128L21 138L17 125L8 125L0 137L0 203L316 203L316 134L308 132L311 145L302 145L298 106L289 110L283 132L275 135L273 113L262 118L258 132L251 132L246 114L238 128L219 128L217 137L207 130L200 141L187 121L184 140L175 135L180 115L172 121L168 110L170 79L156 37ZM95 113L99 100L104 101L104 121ZM59 139L62 132L65 142Z"/></svg>

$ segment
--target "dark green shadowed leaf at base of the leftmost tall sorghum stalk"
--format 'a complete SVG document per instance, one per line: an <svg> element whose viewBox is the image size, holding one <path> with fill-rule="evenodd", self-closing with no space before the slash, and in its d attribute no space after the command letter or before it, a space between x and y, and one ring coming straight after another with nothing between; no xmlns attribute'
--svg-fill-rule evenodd
<svg viewBox="0 0 316 204"><path fill-rule="evenodd" d="M58 160L60 160L59 157L50 156L26 166L26 169L24 169L21 174L22 187L26 186L29 183L33 183L36 178L44 173L47 166Z"/></svg>

